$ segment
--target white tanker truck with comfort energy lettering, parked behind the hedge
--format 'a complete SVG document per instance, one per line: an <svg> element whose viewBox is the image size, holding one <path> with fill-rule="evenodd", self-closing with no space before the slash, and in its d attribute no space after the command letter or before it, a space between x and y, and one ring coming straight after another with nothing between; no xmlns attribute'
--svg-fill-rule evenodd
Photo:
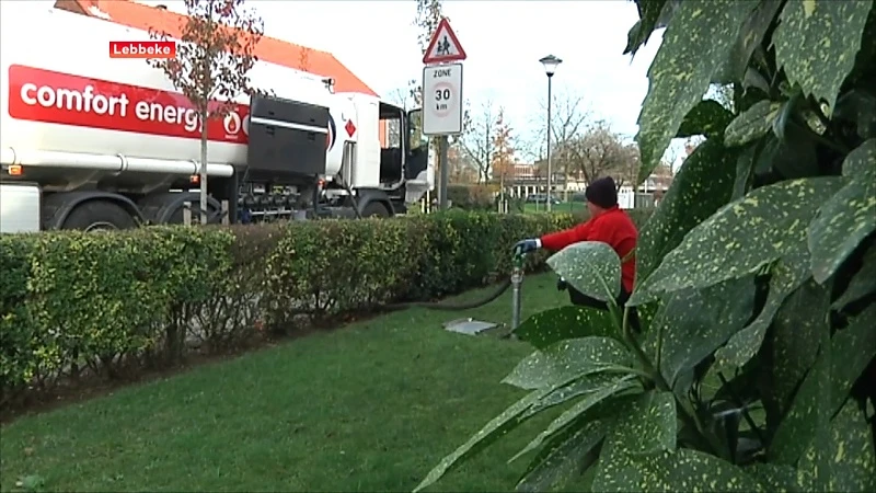
<svg viewBox="0 0 876 493"><path fill-rule="evenodd" d="M0 23L0 232L197 221L194 106L108 54L149 33L36 1L2 2ZM264 94L207 123L212 222L389 217L433 188L419 110L261 60L247 74Z"/></svg>

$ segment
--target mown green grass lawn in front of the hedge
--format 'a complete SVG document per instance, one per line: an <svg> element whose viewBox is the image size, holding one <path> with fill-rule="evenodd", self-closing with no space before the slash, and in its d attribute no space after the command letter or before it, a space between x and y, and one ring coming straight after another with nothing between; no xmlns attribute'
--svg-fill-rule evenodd
<svg viewBox="0 0 876 493"><path fill-rule="evenodd" d="M525 317L567 302L553 274L526 279ZM441 329L461 317L508 321L510 290L468 312L396 312L21 417L0 429L0 490L31 475L50 491L411 491L523 395L499 380L530 347ZM510 490L528 458L507 459L546 419L433 490Z"/></svg>

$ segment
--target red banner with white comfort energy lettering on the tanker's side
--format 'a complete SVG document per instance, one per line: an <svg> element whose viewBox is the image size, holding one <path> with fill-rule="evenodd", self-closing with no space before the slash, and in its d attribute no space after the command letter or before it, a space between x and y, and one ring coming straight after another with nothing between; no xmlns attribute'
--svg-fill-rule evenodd
<svg viewBox="0 0 876 493"><path fill-rule="evenodd" d="M246 144L249 110L237 104L229 114L234 116L210 119L207 138ZM9 67L9 114L32 122L200 138L200 118L181 93L21 65Z"/></svg>

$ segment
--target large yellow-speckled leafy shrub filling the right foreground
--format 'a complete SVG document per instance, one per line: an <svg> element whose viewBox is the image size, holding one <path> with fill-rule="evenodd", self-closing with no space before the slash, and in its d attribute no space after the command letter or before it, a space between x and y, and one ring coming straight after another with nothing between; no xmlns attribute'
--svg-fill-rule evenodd
<svg viewBox="0 0 876 493"><path fill-rule="evenodd" d="M626 310L645 330L615 306L526 321L537 351L504 382L529 393L418 489L565 405L517 456L537 451L518 490L874 491L874 2L637 3L627 51L667 25L641 177L672 137L706 137L641 231ZM703 100L715 83L733 110ZM549 263L581 291L619 293L601 243Z"/></svg>

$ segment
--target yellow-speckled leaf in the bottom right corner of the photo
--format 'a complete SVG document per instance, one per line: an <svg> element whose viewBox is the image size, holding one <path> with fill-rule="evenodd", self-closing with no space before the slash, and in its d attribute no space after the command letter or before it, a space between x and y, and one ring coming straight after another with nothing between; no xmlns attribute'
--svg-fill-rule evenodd
<svg viewBox="0 0 876 493"><path fill-rule="evenodd" d="M876 452L871 425L850 399L818 434L797 466L811 491L876 491Z"/></svg>

